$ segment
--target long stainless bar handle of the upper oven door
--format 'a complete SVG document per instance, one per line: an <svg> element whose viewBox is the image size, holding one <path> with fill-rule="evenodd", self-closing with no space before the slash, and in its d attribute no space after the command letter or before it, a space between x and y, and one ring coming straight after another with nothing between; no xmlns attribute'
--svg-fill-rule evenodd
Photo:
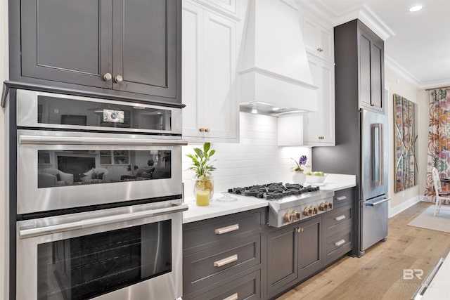
<svg viewBox="0 0 450 300"><path fill-rule="evenodd" d="M93 138L89 136L29 136L20 135L20 144L33 145L188 145L184 140L152 138Z"/></svg>

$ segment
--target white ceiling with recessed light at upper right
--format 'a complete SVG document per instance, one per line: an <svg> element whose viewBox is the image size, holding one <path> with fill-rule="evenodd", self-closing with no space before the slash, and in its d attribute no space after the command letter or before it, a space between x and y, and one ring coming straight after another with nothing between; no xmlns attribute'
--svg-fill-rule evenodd
<svg viewBox="0 0 450 300"><path fill-rule="evenodd" d="M350 11L371 11L391 35L385 39L387 63L420 88L450 86L450 0L314 1L333 17L333 25L342 24ZM415 4L422 10L409 12Z"/></svg>

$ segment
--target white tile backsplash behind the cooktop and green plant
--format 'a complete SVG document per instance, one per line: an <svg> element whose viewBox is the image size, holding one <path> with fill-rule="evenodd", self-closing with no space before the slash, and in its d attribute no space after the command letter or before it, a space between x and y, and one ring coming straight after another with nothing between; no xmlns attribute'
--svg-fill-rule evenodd
<svg viewBox="0 0 450 300"><path fill-rule="evenodd" d="M311 166L311 148L278 147L276 117L240 112L240 143L212 143L216 150L213 163L214 192L224 192L237 186L270 182L292 182L295 165L290 157L307 155ZM193 196L194 173L188 170L191 159L186 154L203 145L183 148L183 181L186 197Z"/></svg>

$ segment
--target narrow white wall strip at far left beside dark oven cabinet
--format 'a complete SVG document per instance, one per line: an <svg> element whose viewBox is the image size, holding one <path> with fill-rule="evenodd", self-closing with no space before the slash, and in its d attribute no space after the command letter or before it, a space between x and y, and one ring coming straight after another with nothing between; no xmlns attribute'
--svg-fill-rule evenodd
<svg viewBox="0 0 450 300"><path fill-rule="evenodd" d="M0 0L0 83L8 79L8 0ZM4 109L0 110L0 211L2 216L0 218L0 298L7 299L6 285L5 281L5 230L6 230L6 220L5 216L5 138L4 138L4 128L5 128L5 112Z"/></svg>

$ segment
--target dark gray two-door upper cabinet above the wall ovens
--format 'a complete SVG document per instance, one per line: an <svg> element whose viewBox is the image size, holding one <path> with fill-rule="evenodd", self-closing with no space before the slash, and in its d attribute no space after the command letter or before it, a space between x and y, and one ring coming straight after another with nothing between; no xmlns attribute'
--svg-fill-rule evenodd
<svg viewBox="0 0 450 300"><path fill-rule="evenodd" d="M10 18L11 80L181 103L181 0L22 0Z"/></svg>

